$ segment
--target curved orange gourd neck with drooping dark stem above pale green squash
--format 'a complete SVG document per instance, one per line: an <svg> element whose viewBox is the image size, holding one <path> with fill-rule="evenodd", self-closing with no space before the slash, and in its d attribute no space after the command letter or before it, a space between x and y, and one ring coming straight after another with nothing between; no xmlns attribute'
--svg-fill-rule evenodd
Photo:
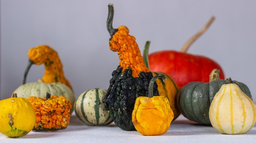
<svg viewBox="0 0 256 143"><path fill-rule="evenodd" d="M28 57L29 64L25 71L23 84L26 83L27 74L31 65L44 64L45 73L39 81L43 81L45 83L60 82L72 89L70 82L64 76L61 59L59 58L58 53L54 49L52 49L48 45L39 45L36 48L29 49Z"/></svg>

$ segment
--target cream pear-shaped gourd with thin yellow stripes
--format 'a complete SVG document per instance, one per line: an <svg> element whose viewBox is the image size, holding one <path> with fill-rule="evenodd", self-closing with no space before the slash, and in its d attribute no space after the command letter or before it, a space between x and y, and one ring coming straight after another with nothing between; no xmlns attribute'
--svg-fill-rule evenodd
<svg viewBox="0 0 256 143"><path fill-rule="evenodd" d="M256 105L231 78L227 78L211 102L209 119L218 132L245 134L255 125Z"/></svg>

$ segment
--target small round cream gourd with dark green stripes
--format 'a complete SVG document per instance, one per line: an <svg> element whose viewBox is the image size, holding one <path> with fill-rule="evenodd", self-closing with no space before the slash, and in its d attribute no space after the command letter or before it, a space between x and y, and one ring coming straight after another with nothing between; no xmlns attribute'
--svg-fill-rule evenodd
<svg viewBox="0 0 256 143"><path fill-rule="evenodd" d="M88 126L101 126L112 123L108 111L102 103L107 91L105 89L90 89L76 98L74 110L76 116Z"/></svg>

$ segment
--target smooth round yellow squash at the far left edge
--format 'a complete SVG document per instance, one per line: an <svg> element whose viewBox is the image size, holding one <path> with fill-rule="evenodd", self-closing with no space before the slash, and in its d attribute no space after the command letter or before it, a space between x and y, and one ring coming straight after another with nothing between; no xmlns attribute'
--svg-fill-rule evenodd
<svg viewBox="0 0 256 143"><path fill-rule="evenodd" d="M0 101L0 132L8 137L18 138L28 134L36 123L33 107L26 98L11 98Z"/></svg>

